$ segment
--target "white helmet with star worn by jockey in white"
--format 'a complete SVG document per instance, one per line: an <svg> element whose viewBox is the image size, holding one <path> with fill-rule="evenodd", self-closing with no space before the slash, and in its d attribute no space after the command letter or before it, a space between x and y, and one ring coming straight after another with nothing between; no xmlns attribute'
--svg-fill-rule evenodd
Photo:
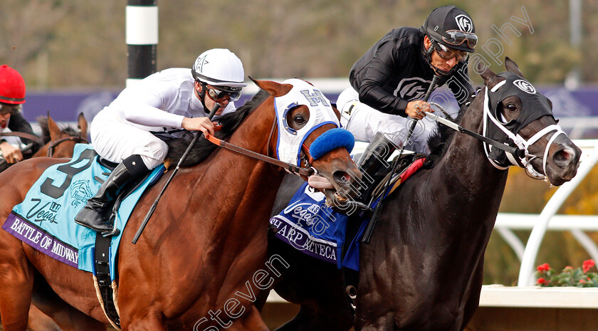
<svg viewBox="0 0 598 331"><path fill-rule="evenodd" d="M241 60L228 49L214 48L201 53L192 68L196 80L223 90L238 92L247 86Z"/></svg>

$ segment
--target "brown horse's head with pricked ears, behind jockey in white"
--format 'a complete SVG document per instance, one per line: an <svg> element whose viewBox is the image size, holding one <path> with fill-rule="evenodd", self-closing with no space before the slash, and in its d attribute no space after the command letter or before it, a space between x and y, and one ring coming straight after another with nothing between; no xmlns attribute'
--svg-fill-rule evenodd
<svg viewBox="0 0 598 331"><path fill-rule="evenodd" d="M66 127L61 130L48 112L48 117L38 119L42 130L43 145L33 157L73 157L73 149L78 142L87 143L88 122L83 112L79 114L77 130Z"/></svg>

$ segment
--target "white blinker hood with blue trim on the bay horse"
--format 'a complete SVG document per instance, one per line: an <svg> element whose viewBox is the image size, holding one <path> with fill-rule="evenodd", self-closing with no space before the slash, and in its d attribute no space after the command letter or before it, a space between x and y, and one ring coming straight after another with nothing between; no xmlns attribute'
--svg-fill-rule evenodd
<svg viewBox="0 0 598 331"><path fill-rule="evenodd" d="M280 161L300 166L300 152L308 135L318 127L331 123L340 127L338 118L332 110L332 104L318 88L305 80L288 79L283 84L293 85L285 95L276 97L275 110L278 120L278 147L276 157ZM287 125L286 115L289 110L299 105L306 105L310 110L310 119L300 130L293 130Z"/></svg>

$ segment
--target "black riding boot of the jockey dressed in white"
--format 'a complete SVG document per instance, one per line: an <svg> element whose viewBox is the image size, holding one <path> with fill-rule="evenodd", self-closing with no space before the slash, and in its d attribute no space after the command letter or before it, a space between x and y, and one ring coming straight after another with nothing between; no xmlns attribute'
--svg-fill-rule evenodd
<svg viewBox="0 0 598 331"><path fill-rule="evenodd" d="M100 186L98 193L75 216L75 222L95 231L112 231L112 225L107 223L107 207L127 184L144 177L149 171L137 154L123 159Z"/></svg>

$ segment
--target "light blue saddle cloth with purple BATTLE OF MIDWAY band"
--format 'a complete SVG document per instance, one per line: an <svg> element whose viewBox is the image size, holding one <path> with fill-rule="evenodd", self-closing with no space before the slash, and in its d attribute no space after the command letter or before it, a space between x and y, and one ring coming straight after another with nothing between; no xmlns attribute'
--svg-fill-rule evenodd
<svg viewBox="0 0 598 331"><path fill-rule="evenodd" d="M11 211L2 228L58 261L94 272L93 248L97 232L76 224L74 219L110 172L111 169L98 162L98 154L91 145L75 145L73 159L46 169L31 186L25 200ZM163 172L163 165L156 167L120 204L115 218L120 233L112 236L110 246L112 280L115 279L115 256L122 229L143 191Z"/></svg>

